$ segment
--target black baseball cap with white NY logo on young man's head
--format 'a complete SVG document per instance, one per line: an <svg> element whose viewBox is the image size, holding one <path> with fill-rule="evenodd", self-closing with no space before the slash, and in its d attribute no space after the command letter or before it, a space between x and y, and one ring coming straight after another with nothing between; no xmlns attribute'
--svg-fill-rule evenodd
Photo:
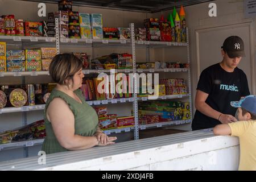
<svg viewBox="0 0 256 182"><path fill-rule="evenodd" d="M245 57L243 40L239 36L229 36L221 48L228 53L230 58Z"/></svg>

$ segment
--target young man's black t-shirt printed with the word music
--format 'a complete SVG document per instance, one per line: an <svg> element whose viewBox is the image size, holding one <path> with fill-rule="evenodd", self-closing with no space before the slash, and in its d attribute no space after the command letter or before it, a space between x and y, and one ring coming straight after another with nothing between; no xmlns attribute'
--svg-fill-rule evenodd
<svg viewBox="0 0 256 182"><path fill-rule="evenodd" d="M214 64L201 73L197 90L208 93L205 103L223 114L235 115L237 108L230 106L231 101L250 95L245 73L235 68L232 73L226 72L221 65ZM207 129L221 124L220 121L196 110L192 121L192 130Z"/></svg>

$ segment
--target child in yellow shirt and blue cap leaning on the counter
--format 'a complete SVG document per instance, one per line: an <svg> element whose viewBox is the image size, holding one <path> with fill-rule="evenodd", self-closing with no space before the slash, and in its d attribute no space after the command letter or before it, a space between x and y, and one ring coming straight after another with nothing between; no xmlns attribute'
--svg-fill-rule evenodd
<svg viewBox="0 0 256 182"><path fill-rule="evenodd" d="M215 135L231 135L240 140L239 170L256 171L256 96L246 96L230 103L238 107L238 122L217 125Z"/></svg>

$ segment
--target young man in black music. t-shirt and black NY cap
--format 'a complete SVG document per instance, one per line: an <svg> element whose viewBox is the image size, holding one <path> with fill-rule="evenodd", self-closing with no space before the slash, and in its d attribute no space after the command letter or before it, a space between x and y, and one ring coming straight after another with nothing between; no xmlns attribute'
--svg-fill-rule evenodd
<svg viewBox="0 0 256 182"><path fill-rule="evenodd" d="M236 108L230 106L230 102L250 95L246 75L237 68L242 56L245 56L243 40L238 36L230 36L221 48L221 63L211 65L200 75L192 130L236 122Z"/></svg>

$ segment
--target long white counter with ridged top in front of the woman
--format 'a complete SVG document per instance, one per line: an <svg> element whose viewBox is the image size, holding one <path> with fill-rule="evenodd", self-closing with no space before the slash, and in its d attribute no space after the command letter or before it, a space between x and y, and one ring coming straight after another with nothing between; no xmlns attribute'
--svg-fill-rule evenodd
<svg viewBox="0 0 256 182"><path fill-rule="evenodd" d="M0 163L0 170L237 170L239 140L197 130Z"/></svg>

